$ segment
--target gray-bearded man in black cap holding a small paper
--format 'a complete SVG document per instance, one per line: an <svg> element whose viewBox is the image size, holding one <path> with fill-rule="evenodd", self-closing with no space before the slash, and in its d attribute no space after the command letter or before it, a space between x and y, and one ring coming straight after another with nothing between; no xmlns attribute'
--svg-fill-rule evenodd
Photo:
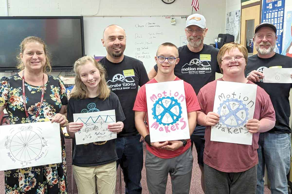
<svg viewBox="0 0 292 194"><path fill-rule="evenodd" d="M245 76L269 95L276 113L273 129L261 133L258 141L257 194L264 193L265 165L272 194L288 194L286 175L290 170L291 128L289 127L291 83L263 83L264 68L291 68L292 58L274 52L277 40L274 25L263 22L256 26L253 42L258 54L248 58Z"/></svg>

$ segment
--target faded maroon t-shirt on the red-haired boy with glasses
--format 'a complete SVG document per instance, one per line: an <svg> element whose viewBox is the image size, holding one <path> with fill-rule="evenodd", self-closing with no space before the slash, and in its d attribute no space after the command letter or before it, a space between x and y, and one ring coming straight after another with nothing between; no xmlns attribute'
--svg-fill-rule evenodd
<svg viewBox="0 0 292 194"><path fill-rule="evenodd" d="M222 78L217 79L223 81ZM213 112L217 80L206 84L198 94L201 111ZM251 81L247 83L254 84ZM271 99L263 88L257 87L254 119L263 118L275 121L275 111ZM253 134L252 144L225 143L211 141L211 126L206 127L204 163L222 172L242 172L258 163L258 138L260 133Z"/></svg>

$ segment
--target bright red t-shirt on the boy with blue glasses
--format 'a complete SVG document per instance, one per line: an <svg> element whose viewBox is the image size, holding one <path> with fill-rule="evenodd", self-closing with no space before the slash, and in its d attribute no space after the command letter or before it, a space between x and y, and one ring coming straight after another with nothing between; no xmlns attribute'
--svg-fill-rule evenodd
<svg viewBox="0 0 292 194"><path fill-rule="evenodd" d="M180 80L180 79L178 77L176 77L174 81L177 81L177 80ZM148 84L148 83L157 83L157 81L153 78L150 81L148 81L146 84ZM140 90L138 91L138 94L137 94L137 97L135 100L135 104L133 107L133 111L147 112L147 100L146 100L145 85L143 85L140 88ZM186 105L187 105L187 112L200 110L201 108L200 108L200 105L199 105L199 102L197 99L197 95L196 95L194 89L192 88L192 86L189 83L184 81L184 88L185 88L185 99L186 99ZM146 115L147 115L147 113L146 113ZM147 122L148 122L148 117L147 117ZM148 131L149 131L149 129L148 129ZM170 151L170 150L166 150L166 149L157 149L153 146L150 147L148 144L146 144L146 148L149 152L151 152L152 154L154 154L155 156L157 156L159 158L164 158L164 159L179 156L180 154L183 154L190 146L191 146L190 139L187 140L187 145L185 147L182 146L175 151Z"/></svg>

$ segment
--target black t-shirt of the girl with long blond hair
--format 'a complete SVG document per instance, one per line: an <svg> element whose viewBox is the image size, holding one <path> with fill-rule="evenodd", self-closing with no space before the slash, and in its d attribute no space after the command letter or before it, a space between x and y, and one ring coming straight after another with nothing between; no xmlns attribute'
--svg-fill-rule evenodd
<svg viewBox="0 0 292 194"><path fill-rule="evenodd" d="M95 108L99 111L115 110L116 122L124 121L125 116L119 102L117 95L110 92L107 99L102 101L102 99L87 98L87 99L74 99L70 98L67 108L67 117L69 122L74 122L73 114L81 113L83 109L88 110L88 104L95 104ZM97 166L102 164L107 164L114 162L118 159L116 152L116 140L108 140L105 144L95 145L94 143L89 143L87 145L80 144L74 145L73 153L73 164L76 166L87 167L87 166Z"/></svg>

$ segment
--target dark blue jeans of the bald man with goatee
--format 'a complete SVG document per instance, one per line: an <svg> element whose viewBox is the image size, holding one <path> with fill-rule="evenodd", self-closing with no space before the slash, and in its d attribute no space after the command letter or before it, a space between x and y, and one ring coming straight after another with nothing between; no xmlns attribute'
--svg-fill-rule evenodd
<svg viewBox="0 0 292 194"><path fill-rule="evenodd" d="M141 135L122 137L116 139L117 168L121 165L125 181L125 194L141 194L141 171L143 168L143 143Z"/></svg>

